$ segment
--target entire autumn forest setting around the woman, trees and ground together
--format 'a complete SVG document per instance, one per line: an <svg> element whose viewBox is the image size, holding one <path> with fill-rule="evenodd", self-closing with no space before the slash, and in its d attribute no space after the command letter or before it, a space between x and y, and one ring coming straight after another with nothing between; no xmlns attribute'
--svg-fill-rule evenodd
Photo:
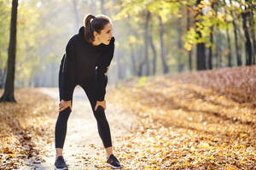
<svg viewBox="0 0 256 170"><path fill-rule="evenodd" d="M113 20L106 113L125 169L255 169L255 5L0 0L0 170L53 169L58 71L87 14ZM71 169L103 169L90 102L75 91L64 154Z"/></svg>

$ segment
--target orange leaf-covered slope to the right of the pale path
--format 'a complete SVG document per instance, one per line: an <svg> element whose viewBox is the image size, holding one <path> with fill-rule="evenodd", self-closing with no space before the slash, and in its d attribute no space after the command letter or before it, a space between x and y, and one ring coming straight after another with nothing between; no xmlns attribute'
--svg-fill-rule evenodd
<svg viewBox="0 0 256 170"><path fill-rule="evenodd" d="M255 169L256 66L144 77L111 93L142 125L119 139L131 169Z"/></svg>

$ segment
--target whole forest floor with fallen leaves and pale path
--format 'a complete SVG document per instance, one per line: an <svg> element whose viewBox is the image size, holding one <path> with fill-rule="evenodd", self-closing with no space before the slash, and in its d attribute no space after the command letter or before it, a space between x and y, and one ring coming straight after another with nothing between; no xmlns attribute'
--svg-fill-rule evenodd
<svg viewBox="0 0 256 170"><path fill-rule="evenodd" d="M255 77L256 66L242 66L109 86L106 115L114 154L124 169L254 169ZM81 88L74 96L67 164L107 169L89 101ZM23 88L15 98L18 104L0 104L0 169L52 169L57 88Z"/></svg>

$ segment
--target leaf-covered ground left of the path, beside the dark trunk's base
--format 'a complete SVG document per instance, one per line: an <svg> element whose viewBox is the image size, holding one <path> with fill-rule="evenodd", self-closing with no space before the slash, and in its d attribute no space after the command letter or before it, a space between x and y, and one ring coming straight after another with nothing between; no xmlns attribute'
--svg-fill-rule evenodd
<svg viewBox="0 0 256 170"><path fill-rule="evenodd" d="M0 90L3 94L3 90ZM37 89L15 90L17 103L0 103L0 169L28 165L28 159L40 162L45 144L53 142L55 103Z"/></svg>

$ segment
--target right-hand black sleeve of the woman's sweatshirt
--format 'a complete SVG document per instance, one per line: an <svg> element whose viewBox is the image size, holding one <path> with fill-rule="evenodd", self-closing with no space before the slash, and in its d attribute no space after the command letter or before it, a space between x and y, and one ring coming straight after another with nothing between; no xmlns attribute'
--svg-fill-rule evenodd
<svg viewBox="0 0 256 170"><path fill-rule="evenodd" d="M111 38L109 44L103 48L102 56L97 62L96 69L96 81L97 81L97 90L96 90L96 99L102 101L105 99L106 87L108 83L108 68L113 59L114 51L114 37Z"/></svg>

